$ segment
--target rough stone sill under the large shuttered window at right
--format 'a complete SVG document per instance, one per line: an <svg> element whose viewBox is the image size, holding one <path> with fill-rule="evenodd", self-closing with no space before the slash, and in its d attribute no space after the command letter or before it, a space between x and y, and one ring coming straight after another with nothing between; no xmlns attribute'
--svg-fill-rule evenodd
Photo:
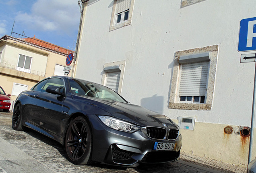
<svg viewBox="0 0 256 173"><path fill-rule="evenodd" d="M169 103L169 109L186 109L186 110L203 110L211 111L212 104L195 104L195 103Z"/></svg>

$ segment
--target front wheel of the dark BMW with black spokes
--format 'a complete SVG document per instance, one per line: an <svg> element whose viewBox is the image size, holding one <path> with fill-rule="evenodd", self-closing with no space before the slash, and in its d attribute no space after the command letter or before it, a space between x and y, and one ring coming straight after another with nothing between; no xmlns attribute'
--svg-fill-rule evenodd
<svg viewBox="0 0 256 173"><path fill-rule="evenodd" d="M77 117L69 124L65 137L65 149L71 163L76 165L92 163L91 129L83 117Z"/></svg>

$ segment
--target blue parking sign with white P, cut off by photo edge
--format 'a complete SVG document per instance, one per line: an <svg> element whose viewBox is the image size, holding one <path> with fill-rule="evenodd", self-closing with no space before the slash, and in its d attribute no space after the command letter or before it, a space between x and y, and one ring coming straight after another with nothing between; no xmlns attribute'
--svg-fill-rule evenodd
<svg viewBox="0 0 256 173"><path fill-rule="evenodd" d="M256 50L256 17L240 21L238 51Z"/></svg>

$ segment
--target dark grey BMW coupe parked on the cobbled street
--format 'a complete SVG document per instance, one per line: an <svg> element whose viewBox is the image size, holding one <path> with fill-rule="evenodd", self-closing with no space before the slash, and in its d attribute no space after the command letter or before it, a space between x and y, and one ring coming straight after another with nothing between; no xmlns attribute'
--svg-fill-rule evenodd
<svg viewBox="0 0 256 173"><path fill-rule="evenodd" d="M180 129L168 117L103 85L66 76L45 78L20 93L12 128L25 127L60 142L77 165L166 163L179 159L182 147Z"/></svg>

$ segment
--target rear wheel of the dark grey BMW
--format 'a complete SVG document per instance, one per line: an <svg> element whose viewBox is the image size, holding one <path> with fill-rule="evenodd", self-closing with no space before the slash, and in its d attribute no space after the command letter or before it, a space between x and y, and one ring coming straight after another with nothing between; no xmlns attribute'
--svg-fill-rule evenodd
<svg viewBox="0 0 256 173"><path fill-rule="evenodd" d="M15 105L12 115L12 129L17 131L22 131L23 127L21 125L22 109L21 104Z"/></svg>

